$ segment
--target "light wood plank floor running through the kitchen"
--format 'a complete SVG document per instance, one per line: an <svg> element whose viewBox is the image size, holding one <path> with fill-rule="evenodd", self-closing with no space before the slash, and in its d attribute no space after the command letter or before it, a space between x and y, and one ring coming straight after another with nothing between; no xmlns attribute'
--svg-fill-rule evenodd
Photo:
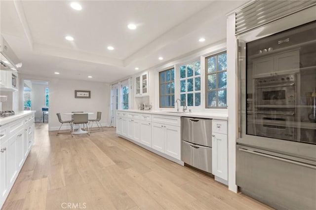
<svg viewBox="0 0 316 210"><path fill-rule="evenodd" d="M117 137L115 129L56 137L36 123L35 144L3 210L259 210L269 207ZM70 209L70 208L68 208Z"/></svg>

